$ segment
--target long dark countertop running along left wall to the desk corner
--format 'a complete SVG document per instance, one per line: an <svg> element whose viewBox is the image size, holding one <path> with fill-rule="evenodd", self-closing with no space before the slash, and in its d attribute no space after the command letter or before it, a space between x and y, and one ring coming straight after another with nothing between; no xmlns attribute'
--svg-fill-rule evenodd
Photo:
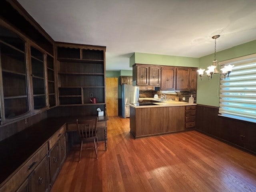
<svg viewBox="0 0 256 192"><path fill-rule="evenodd" d="M24 165L66 123L76 119L87 120L97 116L68 116L46 118L2 141L0 141L0 184L19 167ZM106 121L108 116L99 116Z"/></svg>

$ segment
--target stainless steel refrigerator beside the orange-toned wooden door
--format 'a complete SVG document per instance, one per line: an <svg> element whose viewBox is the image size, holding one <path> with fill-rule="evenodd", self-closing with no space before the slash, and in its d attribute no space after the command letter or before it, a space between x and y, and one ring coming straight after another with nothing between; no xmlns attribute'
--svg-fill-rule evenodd
<svg viewBox="0 0 256 192"><path fill-rule="evenodd" d="M122 116L130 117L130 103L138 103L139 87L130 84L122 85Z"/></svg>

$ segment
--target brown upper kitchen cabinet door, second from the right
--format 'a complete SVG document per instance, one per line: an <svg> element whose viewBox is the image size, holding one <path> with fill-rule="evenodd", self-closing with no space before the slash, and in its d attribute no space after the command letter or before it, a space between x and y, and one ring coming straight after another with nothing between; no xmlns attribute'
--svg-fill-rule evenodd
<svg viewBox="0 0 256 192"><path fill-rule="evenodd" d="M177 67L176 90L190 90L190 68Z"/></svg>

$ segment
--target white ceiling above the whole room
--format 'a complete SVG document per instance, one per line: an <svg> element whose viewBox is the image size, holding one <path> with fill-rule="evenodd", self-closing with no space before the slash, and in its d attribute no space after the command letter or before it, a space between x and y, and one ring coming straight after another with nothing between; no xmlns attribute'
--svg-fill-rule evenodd
<svg viewBox="0 0 256 192"><path fill-rule="evenodd" d="M18 0L55 40L106 46L106 70L133 52L202 57L256 39L255 0Z"/></svg>

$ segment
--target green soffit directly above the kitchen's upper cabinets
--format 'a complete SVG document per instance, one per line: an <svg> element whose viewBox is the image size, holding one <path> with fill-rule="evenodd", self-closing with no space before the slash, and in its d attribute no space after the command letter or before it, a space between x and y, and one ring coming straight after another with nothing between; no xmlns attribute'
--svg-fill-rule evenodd
<svg viewBox="0 0 256 192"><path fill-rule="evenodd" d="M198 58L180 57L170 55L148 54L135 52L130 57L130 67L134 63L153 64L153 65L169 65L169 66L185 66L198 67Z"/></svg>

